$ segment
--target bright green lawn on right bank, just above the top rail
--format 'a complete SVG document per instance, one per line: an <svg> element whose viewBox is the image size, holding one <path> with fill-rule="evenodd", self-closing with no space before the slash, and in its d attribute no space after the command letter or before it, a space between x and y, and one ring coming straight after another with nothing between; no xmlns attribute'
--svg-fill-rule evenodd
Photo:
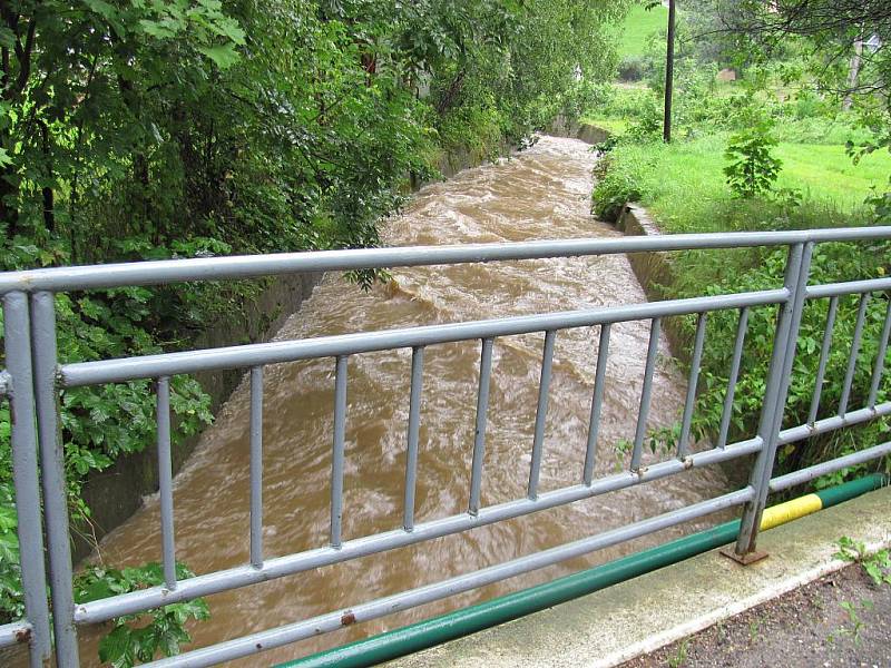
<svg viewBox="0 0 891 668"><path fill-rule="evenodd" d="M722 232L727 227L717 208L738 204L741 216L753 207L734 200L723 173L726 135L691 141L620 146L616 159L638 173L642 204L666 232ZM865 156L853 165L841 145L783 143L776 149L783 161L776 188L796 189L810 205L850 214L861 208L872 187L883 187L891 174L888 151ZM828 214L829 215L829 214ZM758 227L764 220L736 219L737 227ZM828 222L830 224L830 222Z"/></svg>

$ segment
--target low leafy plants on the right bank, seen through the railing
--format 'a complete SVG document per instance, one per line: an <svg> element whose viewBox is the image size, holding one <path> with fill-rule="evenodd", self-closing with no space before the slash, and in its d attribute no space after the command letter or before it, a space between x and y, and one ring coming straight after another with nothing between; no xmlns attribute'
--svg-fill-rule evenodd
<svg viewBox="0 0 891 668"><path fill-rule="evenodd" d="M782 284L785 266L785 250L747 254L744 267L735 266L733 272L722 272L705 254L693 254L689 262L699 262L709 267L712 284L705 294L726 294L740 291L764 289ZM891 247L887 243L866 248L846 244L821 245L815 249L811 263L813 283L856 279L863 276L887 274L891 269ZM693 293L689 282L682 282L676 288L678 295ZM698 288L698 294L702 288ZM848 370L849 356L853 345L854 324L859 308L859 297L844 297L833 327L830 356L822 384L817 419L836 414ZM882 325L888 312L888 296L873 295L868 302L863 338L856 355L849 410L865 406L872 383L872 374L879 350ZM791 374L791 385L786 400L783 426L797 426L809 420L811 401L814 394L816 370L826 325L828 301L819 299L805 305L801 321L795 362ZM746 346L744 347L741 375L734 395L734 420L732 438L753 435L757 430L764 396L764 384L774 342L776 311L774 308L753 310L748 321ZM707 344L703 355L701 392L696 401L695 429L701 436L717 433L724 396L727 390L727 374L731 367L732 342L736 335L737 314L717 312L709 314ZM687 336L692 336L694 322L684 323ZM891 364L891 354L885 355L884 366ZM891 397L891 381L885 374L879 386L878 402ZM792 471L825 461L833 456L850 454L888 440L891 426L884 421L875 421L865 426L832 432L825 436L784 445L777 452L777 473ZM888 462L883 464L888 466ZM839 471L816 481L816 487L828 487L843 482L859 471L873 469L875 463Z"/></svg>

